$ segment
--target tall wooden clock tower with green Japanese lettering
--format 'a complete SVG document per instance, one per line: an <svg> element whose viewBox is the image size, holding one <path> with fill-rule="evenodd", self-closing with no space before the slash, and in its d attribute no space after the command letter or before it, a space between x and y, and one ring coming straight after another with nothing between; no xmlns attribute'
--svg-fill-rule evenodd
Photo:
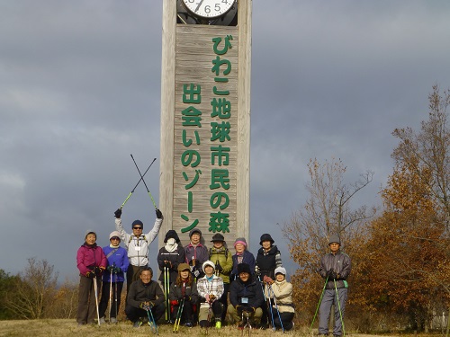
<svg viewBox="0 0 450 337"><path fill-rule="evenodd" d="M164 0L159 205L183 244L248 239L251 0Z"/></svg>

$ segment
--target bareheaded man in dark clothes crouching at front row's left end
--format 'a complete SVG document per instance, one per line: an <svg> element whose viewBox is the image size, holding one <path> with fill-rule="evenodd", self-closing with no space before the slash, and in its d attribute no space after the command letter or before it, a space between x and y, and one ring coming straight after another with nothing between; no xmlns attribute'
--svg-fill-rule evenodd
<svg viewBox="0 0 450 337"><path fill-rule="evenodd" d="M142 319L147 317L147 309L151 310L155 322L164 315L166 306L164 304L163 290L152 280L153 270L150 267L143 267L139 270L139 281L133 282L130 292L127 294L127 305L125 314L133 322L133 327L139 328Z"/></svg>

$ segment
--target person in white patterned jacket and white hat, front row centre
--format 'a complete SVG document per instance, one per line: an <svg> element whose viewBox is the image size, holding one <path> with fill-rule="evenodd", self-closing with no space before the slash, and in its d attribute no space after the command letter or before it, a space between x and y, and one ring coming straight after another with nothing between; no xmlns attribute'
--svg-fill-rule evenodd
<svg viewBox="0 0 450 337"><path fill-rule="evenodd" d="M221 328L223 306L219 298L223 294L223 280L214 274L215 265L211 261L202 264L204 277L197 282L200 297L199 324L204 328L210 325L212 317L215 319L216 329ZM209 319L208 319L209 318Z"/></svg>

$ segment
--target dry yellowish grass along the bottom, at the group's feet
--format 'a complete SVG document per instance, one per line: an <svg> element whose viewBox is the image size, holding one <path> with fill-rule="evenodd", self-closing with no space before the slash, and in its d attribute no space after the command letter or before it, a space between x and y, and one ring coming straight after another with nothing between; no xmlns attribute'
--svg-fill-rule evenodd
<svg viewBox="0 0 450 337"><path fill-rule="evenodd" d="M175 336L172 332L173 325L160 324L158 325L159 336ZM315 333L315 331L313 332ZM177 333L180 336L214 336L214 337L240 337L242 335L236 327L225 326L220 330L214 328L206 332L198 326L193 328L186 328L180 326ZM119 324L103 324L98 325L83 325L78 326L75 320L71 319L55 319L55 320L36 320L36 321L0 321L0 336L32 336L32 337L48 337L48 336L76 336L76 337L104 337L104 336L121 336L121 337L135 337L135 336L152 336L153 333L148 325L142 325L139 329L135 329L127 322ZM247 331L243 334L248 336ZM267 330L252 330L250 336L312 336L309 334L308 328L295 327L293 332L282 333L281 331ZM361 334L361 333L347 333L348 337L374 337L375 335ZM389 335L394 337L393 334ZM409 337L407 334L402 337ZM412 336L412 335L410 335ZM418 335L419 336L419 335Z"/></svg>

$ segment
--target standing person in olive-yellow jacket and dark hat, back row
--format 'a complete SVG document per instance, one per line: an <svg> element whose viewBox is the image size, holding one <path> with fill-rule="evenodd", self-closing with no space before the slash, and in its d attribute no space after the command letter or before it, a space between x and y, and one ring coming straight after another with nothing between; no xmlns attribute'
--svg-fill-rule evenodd
<svg viewBox="0 0 450 337"><path fill-rule="evenodd" d="M215 273L223 280L223 294L219 298L220 303L224 308L228 306L228 292L229 292L229 273L233 269L233 258L229 252L225 238L220 233L212 236L210 248L210 261L215 263ZM226 310L222 312L222 322L225 321Z"/></svg>

